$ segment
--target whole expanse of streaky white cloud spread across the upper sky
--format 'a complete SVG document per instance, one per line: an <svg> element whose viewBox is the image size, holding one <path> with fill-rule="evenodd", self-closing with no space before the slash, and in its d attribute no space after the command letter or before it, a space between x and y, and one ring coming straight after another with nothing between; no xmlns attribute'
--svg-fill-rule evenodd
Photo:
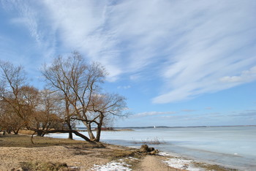
<svg viewBox="0 0 256 171"><path fill-rule="evenodd" d="M136 80L155 69L151 79L160 77L163 86L154 103L255 80L241 74L256 63L254 0L45 0L40 8L18 2L20 18L12 22L25 22L46 51L56 42L78 50L106 66L109 81L127 73Z"/></svg>

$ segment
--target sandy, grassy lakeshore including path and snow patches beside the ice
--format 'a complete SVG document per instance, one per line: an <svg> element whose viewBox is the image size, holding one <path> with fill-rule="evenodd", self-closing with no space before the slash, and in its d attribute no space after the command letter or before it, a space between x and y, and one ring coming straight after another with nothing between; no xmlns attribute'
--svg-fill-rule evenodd
<svg viewBox="0 0 256 171"><path fill-rule="evenodd" d="M20 145L7 142L5 139L24 138L27 142ZM16 139L15 139L16 138ZM53 142L45 145L45 140ZM42 143L40 142L42 141ZM198 162L198 160L188 159L184 156L167 155L160 152L158 155L135 155L138 148L131 148L122 145L109 143L99 143L91 145L89 142L80 140L66 140L50 137L34 137L35 145L31 145L30 137L26 135L10 135L10 137L0 137L0 170L18 170L20 164L38 164L48 162L64 162L70 168L79 170L99 170L114 169L121 170L148 170L150 167L161 168L159 170L232 170L227 166L210 164L209 162ZM16 143L16 144L15 144ZM150 145L154 147L154 145ZM22 167L22 166L21 166ZM150 168L149 168L150 169Z"/></svg>

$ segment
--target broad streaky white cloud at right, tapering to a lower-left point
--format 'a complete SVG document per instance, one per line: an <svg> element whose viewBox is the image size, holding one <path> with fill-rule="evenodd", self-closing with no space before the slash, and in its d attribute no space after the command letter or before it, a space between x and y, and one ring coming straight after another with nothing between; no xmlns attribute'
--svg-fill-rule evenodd
<svg viewBox="0 0 256 171"><path fill-rule="evenodd" d="M233 2L219 1L218 5L217 1L208 1L211 7L206 3L187 5L189 8L179 21L187 24L179 28L184 32L173 42L178 50L173 51L162 69L165 86L154 103L192 99L237 86L234 81L256 80L251 72L243 78L225 77L238 75L256 63L256 24L252 18L255 2ZM227 79L232 83L223 82Z"/></svg>

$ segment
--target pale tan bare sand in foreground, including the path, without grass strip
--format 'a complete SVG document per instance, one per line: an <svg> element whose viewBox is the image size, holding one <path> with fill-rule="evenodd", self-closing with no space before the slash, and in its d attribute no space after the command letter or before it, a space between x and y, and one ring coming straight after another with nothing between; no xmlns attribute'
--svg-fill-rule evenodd
<svg viewBox="0 0 256 171"><path fill-rule="evenodd" d="M123 148L108 145L107 148L83 149L75 146L50 146L40 148L0 148L0 170L21 170L24 163L65 163L73 170L97 170L98 166L104 166L111 160L102 156L102 153L124 150ZM127 163L135 158L127 159ZM124 166L120 165L119 168ZM178 170L168 167L159 156L144 156L137 161L134 170Z"/></svg>

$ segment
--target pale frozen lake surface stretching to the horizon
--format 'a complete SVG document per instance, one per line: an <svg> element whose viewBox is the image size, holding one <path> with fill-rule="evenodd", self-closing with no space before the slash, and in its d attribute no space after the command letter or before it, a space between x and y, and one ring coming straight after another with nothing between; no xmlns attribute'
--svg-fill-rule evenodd
<svg viewBox="0 0 256 171"><path fill-rule="evenodd" d="M50 137L67 137L67 134L50 134ZM160 151L242 170L256 170L256 126L135 129L131 132L102 132L101 140L139 147L141 143L138 142L156 138L165 143L150 146Z"/></svg>

